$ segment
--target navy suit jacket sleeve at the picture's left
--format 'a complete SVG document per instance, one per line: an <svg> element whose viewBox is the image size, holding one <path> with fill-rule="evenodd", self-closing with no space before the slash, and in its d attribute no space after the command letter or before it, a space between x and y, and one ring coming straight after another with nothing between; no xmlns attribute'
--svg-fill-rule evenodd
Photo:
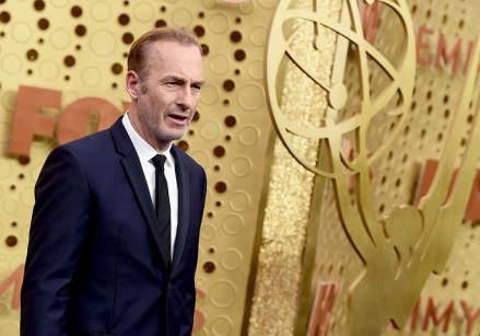
<svg viewBox="0 0 480 336"><path fill-rule="evenodd" d="M89 224L87 181L68 147L55 149L35 186L25 277L21 335L67 335L75 274Z"/></svg>

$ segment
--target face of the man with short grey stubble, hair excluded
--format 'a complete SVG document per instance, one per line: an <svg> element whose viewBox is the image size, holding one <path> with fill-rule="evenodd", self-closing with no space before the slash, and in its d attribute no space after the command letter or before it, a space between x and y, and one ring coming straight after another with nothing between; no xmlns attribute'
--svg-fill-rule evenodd
<svg viewBox="0 0 480 336"><path fill-rule="evenodd" d="M138 92L139 119L144 136L163 147L182 139L194 118L203 59L196 46L156 42L148 51L145 73Z"/></svg>

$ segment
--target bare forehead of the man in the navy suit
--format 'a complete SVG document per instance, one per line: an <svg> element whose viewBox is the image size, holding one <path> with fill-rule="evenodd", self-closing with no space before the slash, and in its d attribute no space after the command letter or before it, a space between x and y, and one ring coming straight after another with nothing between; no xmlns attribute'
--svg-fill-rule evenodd
<svg viewBox="0 0 480 336"><path fill-rule="evenodd" d="M168 40L154 42L147 55L149 72L183 76L195 80L201 80L203 77L203 58L195 45Z"/></svg>

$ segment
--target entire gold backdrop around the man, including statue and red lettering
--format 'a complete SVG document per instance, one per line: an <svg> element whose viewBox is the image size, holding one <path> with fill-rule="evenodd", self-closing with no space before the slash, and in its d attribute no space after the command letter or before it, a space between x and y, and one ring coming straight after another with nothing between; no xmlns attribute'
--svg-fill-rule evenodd
<svg viewBox="0 0 480 336"><path fill-rule="evenodd" d="M185 26L177 144L209 185L195 335L478 335L477 0L0 0L0 336L34 185L126 109L132 42ZM55 260L52 260L55 263Z"/></svg>

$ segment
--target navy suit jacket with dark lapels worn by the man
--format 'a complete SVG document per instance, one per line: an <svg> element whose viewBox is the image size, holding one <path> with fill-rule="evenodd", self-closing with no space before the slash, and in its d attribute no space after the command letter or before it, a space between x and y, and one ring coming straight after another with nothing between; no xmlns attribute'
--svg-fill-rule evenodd
<svg viewBox="0 0 480 336"><path fill-rule="evenodd" d="M172 147L178 229L169 271L137 152L119 119L57 147L35 186L21 334L190 335L207 178Z"/></svg>

